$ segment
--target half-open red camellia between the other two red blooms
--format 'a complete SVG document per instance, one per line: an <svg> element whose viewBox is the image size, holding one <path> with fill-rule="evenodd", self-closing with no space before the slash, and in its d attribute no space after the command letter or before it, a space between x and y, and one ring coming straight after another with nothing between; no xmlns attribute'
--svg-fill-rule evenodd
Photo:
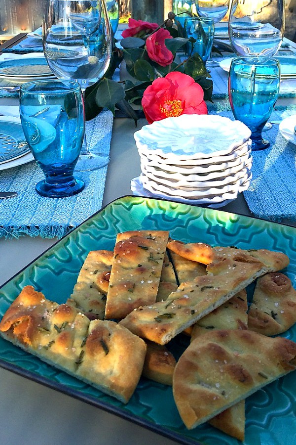
<svg viewBox="0 0 296 445"><path fill-rule="evenodd" d="M172 39L172 36L167 29L160 28L146 40L149 58L160 66L167 66L174 60L174 54L164 43L165 39Z"/></svg>

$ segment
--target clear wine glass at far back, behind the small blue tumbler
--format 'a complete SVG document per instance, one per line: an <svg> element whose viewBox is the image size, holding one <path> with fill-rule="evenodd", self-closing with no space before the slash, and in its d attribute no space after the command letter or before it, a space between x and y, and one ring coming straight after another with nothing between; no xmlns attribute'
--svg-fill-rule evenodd
<svg viewBox="0 0 296 445"><path fill-rule="evenodd" d="M212 18L215 23L220 22L228 11L229 0L195 0L196 12L200 17ZM207 66L219 66L212 60L212 54L207 61Z"/></svg>

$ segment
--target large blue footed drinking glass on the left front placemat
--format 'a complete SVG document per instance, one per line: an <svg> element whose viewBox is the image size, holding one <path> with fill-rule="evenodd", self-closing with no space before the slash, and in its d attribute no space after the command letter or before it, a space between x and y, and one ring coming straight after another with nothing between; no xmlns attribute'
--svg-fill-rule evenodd
<svg viewBox="0 0 296 445"><path fill-rule="evenodd" d="M37 193L61 198L79 193L84 182L74 178L84 134L84 105L73 81L28 82L20 89L20 116L32 154L45 175Z"/></svg>

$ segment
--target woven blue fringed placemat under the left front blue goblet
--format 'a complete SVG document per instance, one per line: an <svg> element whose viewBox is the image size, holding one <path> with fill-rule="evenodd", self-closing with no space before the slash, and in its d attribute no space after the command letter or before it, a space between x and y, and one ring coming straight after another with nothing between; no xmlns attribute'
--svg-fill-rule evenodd
<svg viewBox="0 0 296 445"><path fill-rule="evenodd" d="M109 110L103 110L95 119L86 122L91 151L109 154L112 123L113 115ZM69 198L44 198L35 191L36 183L44 175L34 161L0 171L0 190L18 192L14 198L0 199L0 237L61 238L101 209L106 174L107 167L77 172L75 177L85 182L79 194Z"/></svg>

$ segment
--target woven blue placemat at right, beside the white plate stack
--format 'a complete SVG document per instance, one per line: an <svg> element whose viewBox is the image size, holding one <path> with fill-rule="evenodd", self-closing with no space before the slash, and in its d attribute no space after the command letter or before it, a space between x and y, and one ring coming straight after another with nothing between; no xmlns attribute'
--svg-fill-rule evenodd
<svg viewBox="0 0 296 445"><path fill-rule="evenodd" d="M233 118L229 101L209 106L209 113ZM270 120L283 120L295 115L296 107L276 107ZM269 221L289 218L296 221L296 145L286 140L279 132L279 126L263 131L263 137L270 142L265 150L254 151L253 178L244 197L252 214Z"/></svg>

